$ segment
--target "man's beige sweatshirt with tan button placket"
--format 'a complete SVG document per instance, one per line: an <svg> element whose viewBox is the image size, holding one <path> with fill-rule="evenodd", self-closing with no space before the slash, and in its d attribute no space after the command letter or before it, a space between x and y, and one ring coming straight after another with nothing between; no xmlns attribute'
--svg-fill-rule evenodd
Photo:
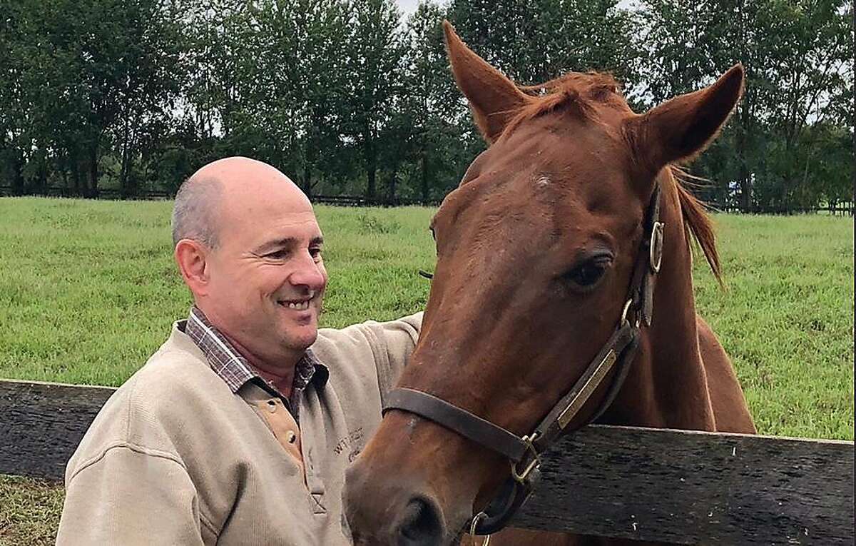
<svg viewBox="0 0 856 546"><path fill-rule="evenodd" d="M345 467L381 418L422 313L322 329L330 379L306 388L300 430L253 383L233 395L175 323L116 390L66 469L58 544L348 544Z"/></svg>

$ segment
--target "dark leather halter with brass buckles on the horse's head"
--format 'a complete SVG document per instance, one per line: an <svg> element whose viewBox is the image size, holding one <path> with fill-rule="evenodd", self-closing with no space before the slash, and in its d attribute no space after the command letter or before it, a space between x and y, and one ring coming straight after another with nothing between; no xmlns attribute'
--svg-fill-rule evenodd
<svg viewBox="0 0 856 546"><path fill-rule="evenodd" d="M530 434L517 436L461 407L419 390L397 388L390 390L386 396L384 414L390 409L397 409L430 419L484 448L502 454L510 462L511 476L502 484L499 495L467 522L470 534L490 535L508 524L508 520L532 495L540 478L541 454L559 436L572 431L567 428L568 424L586 405L609 371L613 370L615 375L612 383L597 411L578 428L600 418L615 400L639 345L639 327L642 323L651 326L655 276L663 259L664 224L659 218L660 187L657 185L645 212L642 243L633 267L627 303L618 325L568 394L556 402Z"/></svg>

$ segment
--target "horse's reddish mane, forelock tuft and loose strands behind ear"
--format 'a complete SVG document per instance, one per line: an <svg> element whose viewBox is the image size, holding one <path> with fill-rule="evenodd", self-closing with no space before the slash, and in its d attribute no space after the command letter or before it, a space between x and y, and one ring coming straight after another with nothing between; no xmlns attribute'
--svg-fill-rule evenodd
<svg viewBox="0 0 856 546"><path fill-rule="evenodd" d="M571 112L577 116L577 119L593 121L596 117L596 103L627 108L621 86L612 74L570 72L537 86L518 86L518 88L524 92L526 104L502 130L500 139L511 134L520 126L520 123L559 109ZM689 174L675 164L669 165L667 170L668 179L675 185L678 200L681 203L681 216L687 231L687 244L692 246L692 241L696 241L710 265L710 271L716 277L716 282L724 287L713 223L710 221L704 203L688 189L688 187L700 186L698 182L704 179Z"/></svg>

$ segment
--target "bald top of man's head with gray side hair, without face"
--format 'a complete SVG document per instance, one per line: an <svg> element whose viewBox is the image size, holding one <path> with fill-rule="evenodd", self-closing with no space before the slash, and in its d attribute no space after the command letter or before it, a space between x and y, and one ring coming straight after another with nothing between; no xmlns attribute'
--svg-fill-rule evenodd
<svg viewBox="0 0 856 546"><path fill-rule="evenodd" d="M254 202L273 195L286 199L295 211L312 211L300 187L267 163L248 157L226 157L208 163L181 184L175 195L173 245L190 239L217 248L217 226L225 217L252 209Z"/></svg>

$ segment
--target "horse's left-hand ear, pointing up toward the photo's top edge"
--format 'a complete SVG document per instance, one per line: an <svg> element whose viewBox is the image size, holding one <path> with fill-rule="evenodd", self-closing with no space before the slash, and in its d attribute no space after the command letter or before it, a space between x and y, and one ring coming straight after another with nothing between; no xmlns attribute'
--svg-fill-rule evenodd
<svg viewBox="0 0 856 546"><path fill-rule="evenodd" d="M517 110L526 104L526 95L468 48L449 21L443 21L443 32L455 82L469 100L473 118L484 139L492 144Z"/></svg>

